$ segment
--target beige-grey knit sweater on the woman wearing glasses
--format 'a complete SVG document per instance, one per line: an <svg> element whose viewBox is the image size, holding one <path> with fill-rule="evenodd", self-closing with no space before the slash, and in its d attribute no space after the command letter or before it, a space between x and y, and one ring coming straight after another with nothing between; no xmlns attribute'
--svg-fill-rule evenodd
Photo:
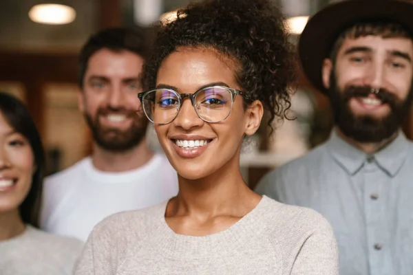
<svg viewBox="0 0 413 275"><path fill-rule="evenodd" d="M338 274L332 228L313 210L264 196L229 229L185 236L167 225L166 205L96 225L75 274Z"/></svg>

